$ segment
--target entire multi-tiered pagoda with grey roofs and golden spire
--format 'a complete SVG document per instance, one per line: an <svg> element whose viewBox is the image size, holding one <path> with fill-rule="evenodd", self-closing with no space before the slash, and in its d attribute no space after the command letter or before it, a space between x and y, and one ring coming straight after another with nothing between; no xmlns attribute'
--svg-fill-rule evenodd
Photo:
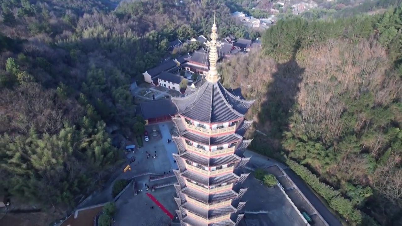
<svg viewBox="0 0 402 226"><path fill-rule="evenodd" d="M172 136L178 147L174 173L182 226L236 226L243 217L242 187L249 158L243 153L251 140L244 134L252 121L244 115L254 101L232 95L219 82L217 72L220 43L213 24L209 47L209 71L205 82L186 97L174 97L178 115L173 117L178 134Z"/></svg>

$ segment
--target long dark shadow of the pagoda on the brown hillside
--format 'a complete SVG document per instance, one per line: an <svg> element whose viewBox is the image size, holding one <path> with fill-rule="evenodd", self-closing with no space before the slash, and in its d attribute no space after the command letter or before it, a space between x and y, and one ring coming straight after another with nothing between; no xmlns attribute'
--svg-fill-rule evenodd
<svg viewBox="0 0 402 226"><path fill-rule="evenodd" d="M261 154L283 161L283 132L289 130L289 119L299 92L299 83L305 71L296 62L297 45L285 63L277 64L273 80L266 92L266 101L260 105L258 114L260 130L257 131L252 148Z"/></svg>

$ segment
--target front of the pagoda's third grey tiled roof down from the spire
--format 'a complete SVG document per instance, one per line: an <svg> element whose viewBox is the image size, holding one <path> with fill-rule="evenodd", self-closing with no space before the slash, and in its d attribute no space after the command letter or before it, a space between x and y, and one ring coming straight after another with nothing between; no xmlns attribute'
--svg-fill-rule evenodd
<svg viewBox="0 0 402 226"><path fill-rule="evenodd" d="M187 151L183 152L183 154L180 154L180 157L184 158L185 160L189 160L190 162L195 162L197 164L209 167L222 166L234 162L240 162L241 160L241 158L235 154L220 156L217 158L205 158Z"/></svg>

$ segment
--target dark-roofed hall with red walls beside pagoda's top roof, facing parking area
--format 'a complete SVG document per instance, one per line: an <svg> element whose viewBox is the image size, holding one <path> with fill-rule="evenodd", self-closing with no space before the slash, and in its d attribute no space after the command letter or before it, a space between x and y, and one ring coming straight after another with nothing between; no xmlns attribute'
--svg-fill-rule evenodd
<svg viewBox="0 0 402 226"><path fill-rule="evenodd" d="M177 109L172 99L169 98L139 103L137 105L137 113L144 117L148 125L172 120L171 116L176 115Z"/></svg>

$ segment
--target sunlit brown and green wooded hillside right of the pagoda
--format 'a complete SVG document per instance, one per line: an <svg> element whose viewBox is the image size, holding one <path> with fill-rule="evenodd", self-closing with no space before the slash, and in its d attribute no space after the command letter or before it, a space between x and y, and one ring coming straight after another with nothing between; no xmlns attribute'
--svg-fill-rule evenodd
<svg viewBox="0 0 402 226"><path fill-rule="evenodd" d="M252 148L286 162L350 225L402 225L401 18L399 7L279 21L261 51L226 67L225 84L258 102L248 117L267 136L250 135Z"/></svg>

